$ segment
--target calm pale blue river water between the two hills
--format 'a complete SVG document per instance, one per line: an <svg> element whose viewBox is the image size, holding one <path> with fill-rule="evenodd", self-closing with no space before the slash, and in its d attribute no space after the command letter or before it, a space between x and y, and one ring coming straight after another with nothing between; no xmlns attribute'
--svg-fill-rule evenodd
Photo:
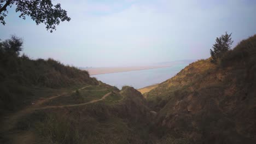
<svg viewBox="0 0 256 144"><path fill-rule="evenodd" d="M132 86L137 89L164 82L176 75L187 65L188 64L177 64L167 68L126 71L121 73L93 75L92 77L96 77L97 80L116 86L119 89L123 86Z"/></svg>

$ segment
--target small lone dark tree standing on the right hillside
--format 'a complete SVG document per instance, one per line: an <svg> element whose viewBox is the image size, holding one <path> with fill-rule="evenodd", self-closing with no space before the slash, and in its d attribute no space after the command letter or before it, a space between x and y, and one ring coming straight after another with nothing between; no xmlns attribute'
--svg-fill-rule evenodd
<svg viewBox="0 0 256 144"><path fill-rule="evenodd" d="M217 63L219 58L222 58L224 53L228 52L231 48L233 40L231 39L231 34L227 32L219 38L216 38L215 44L212 46L213 50L210 49L211 62Z"/></svg>

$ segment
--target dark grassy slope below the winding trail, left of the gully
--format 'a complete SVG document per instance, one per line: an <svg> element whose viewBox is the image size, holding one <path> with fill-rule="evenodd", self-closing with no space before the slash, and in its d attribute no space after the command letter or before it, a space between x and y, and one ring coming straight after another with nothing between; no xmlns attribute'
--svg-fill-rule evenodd
<svg viewBox="0 0 256 144"><path fill-rule="evenodd" d="M119 92L102 85L112 92L106 99L26 113L11 130L5 131L2 142L16 143L23 137L24 143L147 143L149 115L143 96L131 87ZM92 87L96 90L98 86ZM72 95L63 98L67 97Z"/></svg>

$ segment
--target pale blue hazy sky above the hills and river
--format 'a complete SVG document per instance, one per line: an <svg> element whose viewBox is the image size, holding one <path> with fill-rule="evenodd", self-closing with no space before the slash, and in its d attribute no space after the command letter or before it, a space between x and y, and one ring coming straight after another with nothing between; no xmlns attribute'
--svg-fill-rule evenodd
<svg viewBox="0 0 256 144"><path fill-rule="evenodd" d="M0 39L24 39L33 59L76 67L125 67L210 57L216 37L232 32L233 47L256 34L254 0L59 0L71 21L53 33L9 9Z"/></svg>

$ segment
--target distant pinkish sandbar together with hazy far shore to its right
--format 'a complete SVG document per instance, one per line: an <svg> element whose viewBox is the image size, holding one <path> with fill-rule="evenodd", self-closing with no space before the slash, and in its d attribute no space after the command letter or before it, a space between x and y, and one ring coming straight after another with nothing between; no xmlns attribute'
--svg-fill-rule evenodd
<svg viewBox="0 0 256 144"><path fill-rule="evenodd" d="M83 68L80 67L79 69L87 70L90 75L100 75L100 74L109 74L109 73L120 73L124 71L135 71L135 70L146 70L146 69L158 69L158 68L166 68L171 67L176 64L182 63L191 63L196 60L188 59L182 61L172 61L172 62L162 62L156 63L152 65L144 65L144 66L133 66L133 67L102 67L102 68Z"/></svg>

